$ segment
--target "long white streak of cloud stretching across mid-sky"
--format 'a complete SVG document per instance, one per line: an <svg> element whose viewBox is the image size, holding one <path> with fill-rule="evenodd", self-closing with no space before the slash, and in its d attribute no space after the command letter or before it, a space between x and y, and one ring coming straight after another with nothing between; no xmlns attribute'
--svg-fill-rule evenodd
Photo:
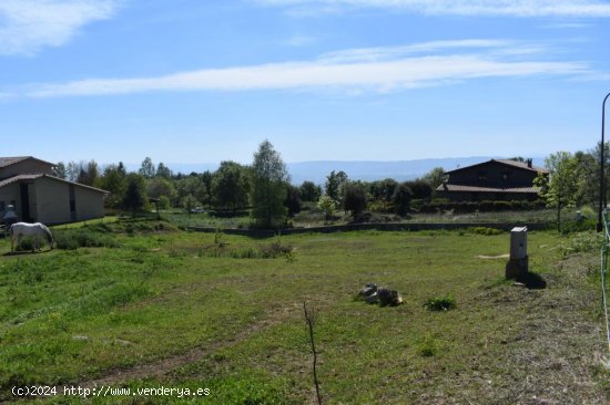
<svg viewBox="0 0 610 405"><path fill-rule="evenodd" d="M523 45L510 41L466 40L355 49L327 53L312 61L205 69L159 77L91 79L32 85L21 94L55 97L253 90L338 90L353 94L404 91L482 77L562 75L573 79L592 73L584 62L548 61L548 55L540 61L530 53L520 54L517 51Z"/></svg>

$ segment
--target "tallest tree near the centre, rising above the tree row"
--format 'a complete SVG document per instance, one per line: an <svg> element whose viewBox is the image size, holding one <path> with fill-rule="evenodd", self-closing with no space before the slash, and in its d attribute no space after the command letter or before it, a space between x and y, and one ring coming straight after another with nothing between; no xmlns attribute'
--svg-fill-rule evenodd
<svg viewBox="0 0 610 405"><path fill-rule="evenodd" d="M257 226L274 228L284 224L287 183L286 165L271 142L265 139L254 154L252 164L252 218Z"/></svg>

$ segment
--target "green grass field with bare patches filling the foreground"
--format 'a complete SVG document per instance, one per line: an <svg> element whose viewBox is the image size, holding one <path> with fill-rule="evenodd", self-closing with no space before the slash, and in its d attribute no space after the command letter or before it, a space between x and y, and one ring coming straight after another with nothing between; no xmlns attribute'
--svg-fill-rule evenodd
<svg viewBox="0 0 610 405"><path fill-rule="evenodd" d="M207 397L180 399L204 404L315 403L303 302L316 312L325 404L610 399L592 236L530 232L530 269L546 288L529 289L505 281L506 258L494 258L508 252L508 233L279 240L153 222L91 229L114 247L0 257L0 402L17 401L12 386L44 384L206 387ZM355 299L367 282L400 291L404 304ZM424 308L441 295L456 308Z"/></svg>

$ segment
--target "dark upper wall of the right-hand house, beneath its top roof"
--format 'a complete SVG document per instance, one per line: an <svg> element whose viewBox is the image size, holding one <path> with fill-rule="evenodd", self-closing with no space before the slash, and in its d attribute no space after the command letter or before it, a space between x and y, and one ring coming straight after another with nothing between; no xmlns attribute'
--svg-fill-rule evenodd
<svg viewBox="0 0 610 405"><path fill-rule="evenodd" d="M502 176L505 174L508 175L507 179ZM536 172L489 163L450 173L449 183L480 187L531 187L536 176Z"/></svg>

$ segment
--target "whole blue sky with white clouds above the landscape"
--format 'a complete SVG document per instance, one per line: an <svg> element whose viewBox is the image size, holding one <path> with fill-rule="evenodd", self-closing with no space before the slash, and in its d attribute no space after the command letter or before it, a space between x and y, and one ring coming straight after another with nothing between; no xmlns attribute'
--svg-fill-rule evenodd
<svg viewBox="0 0 610 405"><path fill-rule="evenodd" d="M609 23L602 0L1 0L0 156L586 150Z"/></svg>

